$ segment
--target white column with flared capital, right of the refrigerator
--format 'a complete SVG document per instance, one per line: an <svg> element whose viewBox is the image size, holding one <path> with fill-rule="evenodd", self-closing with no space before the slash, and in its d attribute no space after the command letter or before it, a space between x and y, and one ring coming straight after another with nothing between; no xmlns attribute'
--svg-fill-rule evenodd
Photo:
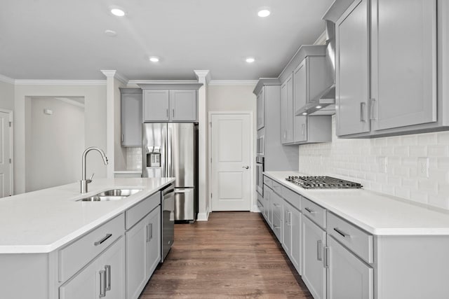
<svg viewBox="0 0 449 299"><path fill-rule="evenodd" d="M198 169L199 169L199 203L198 203L198 221L207 221L209 207L209 150L208 150L208 101L207 90L210 82L210 74L208 70L194 71L199 83L203 86L198 90Z"/></svg>

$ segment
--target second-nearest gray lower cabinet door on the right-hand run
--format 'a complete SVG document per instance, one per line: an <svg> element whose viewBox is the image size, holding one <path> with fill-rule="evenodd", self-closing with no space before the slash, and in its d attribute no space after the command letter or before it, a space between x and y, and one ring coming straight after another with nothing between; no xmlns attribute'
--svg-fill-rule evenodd
<svg viewBox="0 0 449 299"><path fill-rule="evenodd" d="M323 250L326 232L307 217L302 217L302 280L315 299L326 298L326 268Z"/></svg>

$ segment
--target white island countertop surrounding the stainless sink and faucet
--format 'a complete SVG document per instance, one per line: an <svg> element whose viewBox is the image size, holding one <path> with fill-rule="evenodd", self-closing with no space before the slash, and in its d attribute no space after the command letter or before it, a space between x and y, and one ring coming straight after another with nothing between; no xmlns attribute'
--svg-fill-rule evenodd
<svg viewBox="0 0 449 299"><path fill-rule="evenodd" d="M76 239L175 181L174 178L95 179L0 198L0 253L48 253ZM143 189L123 200L77 202L113 188Z"/></svg>

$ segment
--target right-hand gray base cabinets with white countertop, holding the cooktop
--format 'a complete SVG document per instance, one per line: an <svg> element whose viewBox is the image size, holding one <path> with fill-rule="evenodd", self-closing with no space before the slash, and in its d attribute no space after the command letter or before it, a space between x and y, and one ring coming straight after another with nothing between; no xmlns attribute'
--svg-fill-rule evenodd
<svg viewBox="0 0 449 299"><path fill-rule="evenodd" d="M264 172L258 205L314 298L448 298L449 212Z"/></svg>

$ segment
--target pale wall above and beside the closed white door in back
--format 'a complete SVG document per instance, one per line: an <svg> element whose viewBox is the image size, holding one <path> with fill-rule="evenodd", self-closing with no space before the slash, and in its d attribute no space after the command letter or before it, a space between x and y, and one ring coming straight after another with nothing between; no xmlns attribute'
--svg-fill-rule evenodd
<svg viewBox="0 0 449 299"><path fill-rule="evenodd" d="M208 86L208 111L251 111L253 112L253 148L255 148L255 139L257 137L257 119L256 119L256 96L253 94L255 83L243 85L209 85ZM209 120L210 121L210 120ZM209 142L209 141L208 141ZM208 159L209 161L209 159ZM255 182L255 169L252 169L253 181ZM254 186L254 184L252 185ZM209 192L210 193L210 192ZM255 209L255 189L253 193L251 209ZM210 197L210 195L209 195Z"/></svg>

